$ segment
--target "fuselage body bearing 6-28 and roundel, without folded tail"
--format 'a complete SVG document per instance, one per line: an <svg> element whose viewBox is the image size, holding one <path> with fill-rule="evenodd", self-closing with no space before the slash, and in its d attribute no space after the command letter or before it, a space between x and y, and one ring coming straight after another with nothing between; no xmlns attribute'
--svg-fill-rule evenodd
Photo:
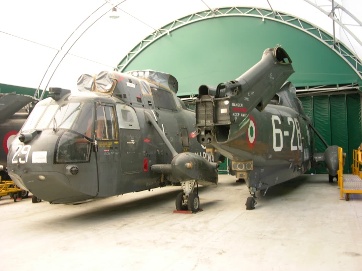
<svg viewBox="0 0 362 271"><path fill-rule="evenodd" d="M305 114L269 104L263 112L254 109L249 119L248 129L241 136L227 143L211 143L217 152L233 161L234 171L245 165L242 171L248 187L258 188L260 183L272 186L310 169L314 133ZM252 170L245 163L238 168L238 162L245 161L251 162Z"/></svg>

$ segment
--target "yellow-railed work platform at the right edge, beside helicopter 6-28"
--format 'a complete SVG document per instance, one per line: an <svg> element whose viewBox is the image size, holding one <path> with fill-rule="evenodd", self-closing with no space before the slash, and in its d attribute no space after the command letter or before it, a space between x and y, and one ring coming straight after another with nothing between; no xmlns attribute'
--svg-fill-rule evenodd
<svg viewBox="0 0 362 271"><path fill-rule="evenodd" d="M362 173L360 166L362 165L361 150L353 150L352 175L343 176L343 157L342 148L338 148L338 186L340 187L340 197L343 198L345 193L346 201L349 201L350 194L362 194Z"/></svg>

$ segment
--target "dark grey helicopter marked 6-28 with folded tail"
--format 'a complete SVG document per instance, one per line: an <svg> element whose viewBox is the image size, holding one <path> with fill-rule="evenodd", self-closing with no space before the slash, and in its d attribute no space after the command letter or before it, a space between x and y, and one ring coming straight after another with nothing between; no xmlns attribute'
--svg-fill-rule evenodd
<svg viewBox="0 0 362 271"><path fill-rule="evenodd" d="M325 162L329 181L337 177L338 146L329 146L305 114L296 89L286 82L294 72L281 47L265 49L262 59L239 78L217 87L201 85L196 99L197 140L208 155L232 160L230 172L256 192L289 181ZM314 133L313 133L314 132ZM315 135L326 146L316 153Z"/></svg>

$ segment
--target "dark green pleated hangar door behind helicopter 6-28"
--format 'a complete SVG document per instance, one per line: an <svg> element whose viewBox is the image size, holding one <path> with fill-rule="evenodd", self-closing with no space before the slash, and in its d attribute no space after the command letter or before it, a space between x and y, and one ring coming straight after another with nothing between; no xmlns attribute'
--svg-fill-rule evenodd
<svg viewBox="0 0 362 271"><path fill-rule="evenodd" d="M338 145L346 153L343 173L352 173L353 150L362 143L361 96L360 94L326 95L299 97L304 111L312 119L315 129L329 145ZM317 152L324 152L325 146L315 136ZM327 174L324 167L309 173Z"/></svg>

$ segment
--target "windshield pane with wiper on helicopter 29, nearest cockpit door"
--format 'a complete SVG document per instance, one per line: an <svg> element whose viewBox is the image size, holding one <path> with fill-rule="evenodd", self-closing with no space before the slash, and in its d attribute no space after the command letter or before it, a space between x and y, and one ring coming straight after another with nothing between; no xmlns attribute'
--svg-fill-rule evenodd
<svg viewBox="0 0 362 271"><path fill-rule="evenodd" d="M60 106L53 120L51 121L49 128L64 128L71 129L72 124L78 115L81 105L83 103L68 103ZM55 120L55 123L54 123Z"/></svg>

